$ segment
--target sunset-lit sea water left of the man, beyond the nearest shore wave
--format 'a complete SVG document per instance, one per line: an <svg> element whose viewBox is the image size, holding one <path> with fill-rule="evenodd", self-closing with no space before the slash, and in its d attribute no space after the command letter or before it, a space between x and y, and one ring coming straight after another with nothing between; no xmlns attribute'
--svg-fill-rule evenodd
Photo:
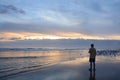
<svg viewBox="0 0 120 80"><path fill-rule="evenodd" d="M10 49L0 52L0 72L55 64L87 55L87 50Z"/></svg>

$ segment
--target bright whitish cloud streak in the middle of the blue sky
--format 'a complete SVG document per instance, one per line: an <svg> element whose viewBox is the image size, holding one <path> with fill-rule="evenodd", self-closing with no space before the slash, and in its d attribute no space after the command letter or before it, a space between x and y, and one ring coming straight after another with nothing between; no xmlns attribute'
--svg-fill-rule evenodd
<svg viewBox="0 0 120 80"><path fill-rule="evenodd" d="M75 26L79 24L79 22L75 21L74 19L70 19L63 13L54 10L41 11L38 16L40 16L40 18L44 20L47 20L48 22L57 23L65 26Z"/></svg>

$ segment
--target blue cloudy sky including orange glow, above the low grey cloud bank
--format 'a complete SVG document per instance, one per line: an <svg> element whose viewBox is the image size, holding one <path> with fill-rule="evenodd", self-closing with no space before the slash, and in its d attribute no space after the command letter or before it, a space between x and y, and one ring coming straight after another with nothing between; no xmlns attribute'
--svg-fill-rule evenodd
<svg viewBox="0 0 120 80"><path fill-rule="evenodd" d="M0 42L120 40L120 0L0 0Z"/></svg>

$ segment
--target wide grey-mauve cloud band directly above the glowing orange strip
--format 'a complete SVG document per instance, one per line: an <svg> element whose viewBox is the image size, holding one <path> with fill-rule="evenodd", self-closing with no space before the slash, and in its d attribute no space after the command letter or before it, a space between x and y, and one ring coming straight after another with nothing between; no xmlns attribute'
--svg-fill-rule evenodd
<svg viewBox="0 0 120 80"><path fill-rule="evenodd" d="M114 30L113 30L114 29ZM64 26L50 22L36 22L33 23L0 23L0 32L33 32L42 34L56 34L58 32L65 33L80 33L85 35L119 35L119 26L117 23L113 23L112 20L92 20L83 21L77 26Z"/></svg>

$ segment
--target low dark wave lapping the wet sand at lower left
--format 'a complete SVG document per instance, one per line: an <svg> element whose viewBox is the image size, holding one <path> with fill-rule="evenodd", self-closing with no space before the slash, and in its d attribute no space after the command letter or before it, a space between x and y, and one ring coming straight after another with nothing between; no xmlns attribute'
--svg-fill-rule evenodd
<svg viewBox="0 0 120 80"><path fill-rule="evenodd" d="M12 75L17 75L20 73L25 73L25 72L30 72L30 71L35 71L39 69L44 69L47 67L50 67L55 64L47 63L44 65L34 65L34 66L29 66L29 67L22 67L22 68L11 68L8 70L3 70L0 71L0 79L4 79L6 77L12 76Z"/></svg>

